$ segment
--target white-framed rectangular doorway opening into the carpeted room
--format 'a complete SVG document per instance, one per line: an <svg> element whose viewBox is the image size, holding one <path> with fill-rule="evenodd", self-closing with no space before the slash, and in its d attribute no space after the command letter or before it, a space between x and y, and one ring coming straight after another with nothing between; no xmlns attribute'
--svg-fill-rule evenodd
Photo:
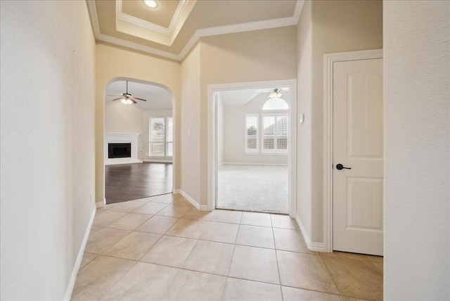
<svg viewBox="0 0 450 301"><path fill-rule="evenodd" d="M285 80L209 87L211 210L295 212L295 86Z"/></svg>

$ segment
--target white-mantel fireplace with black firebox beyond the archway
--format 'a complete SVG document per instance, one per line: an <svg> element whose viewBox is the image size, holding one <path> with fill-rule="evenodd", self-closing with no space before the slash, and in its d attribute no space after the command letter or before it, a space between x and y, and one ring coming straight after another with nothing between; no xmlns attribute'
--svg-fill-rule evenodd
<svg viewBox="0 0 450 301"><path fill-rule="evenodd" d="M1 1L1 0L0 0ZM141 133L105 133L105 165L142 163L138 158Z"/></svg>

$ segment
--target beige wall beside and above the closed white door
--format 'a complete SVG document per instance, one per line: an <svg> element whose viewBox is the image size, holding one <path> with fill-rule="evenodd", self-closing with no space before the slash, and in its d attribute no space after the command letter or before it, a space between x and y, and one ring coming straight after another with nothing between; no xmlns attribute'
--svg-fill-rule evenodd
<svg viewBox="0 0 450 301"><path fill-rule="evenodd" d="M323 54L383 48L382 1L305 1L298 32L297 214L323 242Z"/></svg>

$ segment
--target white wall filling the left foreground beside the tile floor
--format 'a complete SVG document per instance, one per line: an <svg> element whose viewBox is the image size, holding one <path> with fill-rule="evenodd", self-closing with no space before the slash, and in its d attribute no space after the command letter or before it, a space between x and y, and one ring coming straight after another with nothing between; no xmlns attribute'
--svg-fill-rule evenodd
<svg viewBox="0 0 450 301"><path fill-rule="evenodd" d="M95 210L95 41L84 1L0 13L0 299L63 300Z"/></svg>

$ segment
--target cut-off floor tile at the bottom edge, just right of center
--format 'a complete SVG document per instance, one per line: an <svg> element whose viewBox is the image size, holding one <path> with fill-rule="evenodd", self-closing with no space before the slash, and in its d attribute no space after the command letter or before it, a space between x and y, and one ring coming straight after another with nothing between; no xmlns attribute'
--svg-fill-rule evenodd
<svg viewBox="0 0 450 301"><path fill-rule="evenodd" d="M281 288L278 285L228 278L222 300L281 301L283 298L281 297Z"/></svg>

